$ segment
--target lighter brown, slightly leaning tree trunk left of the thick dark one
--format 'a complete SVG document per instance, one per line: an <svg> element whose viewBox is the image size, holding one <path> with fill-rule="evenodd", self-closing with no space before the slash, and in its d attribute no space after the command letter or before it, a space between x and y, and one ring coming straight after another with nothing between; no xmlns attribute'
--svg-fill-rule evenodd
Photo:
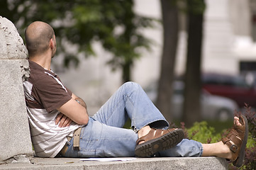
<svg viewBox="0 0 256 170"><path fill-rule="evenodd" d="M178 9L175 2L174 0L161 0L163 49L156 105L169 123L172 121L170 105L178 40Z"/></svg>

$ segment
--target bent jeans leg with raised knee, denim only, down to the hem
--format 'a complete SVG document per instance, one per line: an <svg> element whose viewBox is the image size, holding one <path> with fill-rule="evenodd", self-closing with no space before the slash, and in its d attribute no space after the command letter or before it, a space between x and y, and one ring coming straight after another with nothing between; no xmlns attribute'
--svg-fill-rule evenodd
<svg viewBox="0 0 256 170"><path fill-rule="evenodd" d="M154 128L169 126L145 91L134 82L123 84L93 116L101 123L118 128L123 127L128 117L135 132L150 123Z"/></svg>

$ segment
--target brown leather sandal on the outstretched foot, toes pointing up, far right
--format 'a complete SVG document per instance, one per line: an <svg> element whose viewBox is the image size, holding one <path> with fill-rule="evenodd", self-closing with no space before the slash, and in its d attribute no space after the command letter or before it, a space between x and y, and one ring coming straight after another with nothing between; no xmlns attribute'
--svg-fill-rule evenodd
<svg viewBox="0 0 256 170"><path fill-rule="evenodd" d="M230 161L237 167L243 165L248 137L248 123L245 115L240 115L239 121L242 125L234 124L233 129L222 139L222 142L228 145L232 152L232 159Z"/></svg>

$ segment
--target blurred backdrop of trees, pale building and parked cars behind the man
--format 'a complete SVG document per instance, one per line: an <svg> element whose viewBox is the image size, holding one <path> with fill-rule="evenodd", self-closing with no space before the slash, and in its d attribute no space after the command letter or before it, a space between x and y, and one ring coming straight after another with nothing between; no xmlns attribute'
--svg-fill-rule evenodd
<svg viewBox="0 0 256 170"><path fill-rule="evenodd" d="M96 111L135 81L172 123L230 121L256 106L256 0L2 0L22 37L57 37L52 70Z"/></svg>

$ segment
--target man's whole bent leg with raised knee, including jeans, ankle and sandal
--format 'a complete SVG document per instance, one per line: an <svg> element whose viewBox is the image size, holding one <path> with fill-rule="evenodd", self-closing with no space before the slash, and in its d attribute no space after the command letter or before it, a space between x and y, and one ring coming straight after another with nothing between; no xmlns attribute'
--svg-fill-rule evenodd
<svg viewBox="0 0 256 170"><path fill-rule="evenodd" d="M157 151L173 147L183 138L182 130L165 130L165 132L158 130L156 132L151 129L168 128L169 123L141 86L134 82L123 84L93 118L106 125L122 128L127 117L131 120L133 130L138 132L138 137L148 135L140 138L138 143L141 145L135 148L135 154L140 157L147 157ZM161 135L162 140L157 138L151 141L152 135L157 137Z"/></svg>

